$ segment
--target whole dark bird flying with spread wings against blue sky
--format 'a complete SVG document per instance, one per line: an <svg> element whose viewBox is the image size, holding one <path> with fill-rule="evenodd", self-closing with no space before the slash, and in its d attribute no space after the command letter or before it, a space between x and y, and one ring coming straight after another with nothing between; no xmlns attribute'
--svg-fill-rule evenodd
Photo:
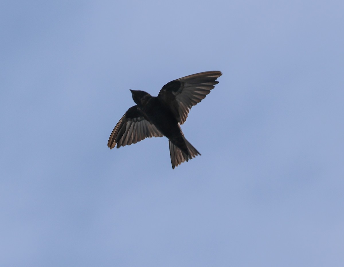
<svg viewBox="0 0 344 267"><path fill-rule="evenodd" d="M172 168L201 155L184 137L180 125L190 109L210 93L221 71L189 75L164 85L157 97L140 90L130 90L136 103L123 115L112 131L108 147L135 144L146 137L169 139Z"/></svg>

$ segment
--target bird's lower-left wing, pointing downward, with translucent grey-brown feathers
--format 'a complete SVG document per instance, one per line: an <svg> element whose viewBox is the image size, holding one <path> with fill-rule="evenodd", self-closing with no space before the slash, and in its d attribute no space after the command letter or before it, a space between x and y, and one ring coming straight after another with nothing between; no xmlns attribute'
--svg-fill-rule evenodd
<svg viewBox="0 0 344 267"><path fill-rule="evenodd" d="M137 106L132 106L119 120L112 131L108 147L117 148L135 144L147 137L164 136L152 123L144 118L142 111Z"/></svg>

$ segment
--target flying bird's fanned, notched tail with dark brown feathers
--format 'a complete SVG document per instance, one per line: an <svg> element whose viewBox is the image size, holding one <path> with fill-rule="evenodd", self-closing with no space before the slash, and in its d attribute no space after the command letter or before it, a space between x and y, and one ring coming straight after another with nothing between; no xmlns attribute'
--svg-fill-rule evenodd
<svg viewBox="0 0 344 267"><path fill-rule="evenodd" d="M181 150L178 146L173 144L171 139L169 139L169 145L170 145L170 156L171 156L171 163L172 163L172 169L174 167L178 167L178 165L181 165L184 161L189 161L189 159L192 159L196 157L197 155L201 155L200 152L197 151L196 148L194 148L189 141L185 139L183 136L186 148L187 148L187 154Z"/></svg>

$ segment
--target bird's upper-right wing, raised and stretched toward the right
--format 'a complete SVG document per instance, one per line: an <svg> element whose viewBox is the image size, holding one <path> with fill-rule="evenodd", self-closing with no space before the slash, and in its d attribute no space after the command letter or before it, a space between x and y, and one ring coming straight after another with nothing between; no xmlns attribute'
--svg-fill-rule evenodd
<svg viewBox="0 0 344 267"><path fill-rule="evenodd" d="M158 97L169 105L180 124L183 124L190 109L210 93L221 71L206 71L189 75L164 85Z"/></svg>

